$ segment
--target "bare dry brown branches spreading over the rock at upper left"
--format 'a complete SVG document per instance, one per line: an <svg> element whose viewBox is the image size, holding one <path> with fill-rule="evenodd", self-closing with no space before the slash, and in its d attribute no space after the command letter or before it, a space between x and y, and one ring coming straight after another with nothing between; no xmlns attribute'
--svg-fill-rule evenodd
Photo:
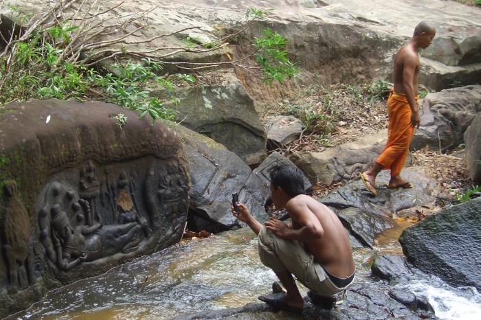
<svg viewBox="0 0 481 320"><path fill-rule="evenodd" d="M10 38L5 41L8 45L5 46L5 49L0 54L0 58L7 54L11 55L12 51L15 50L16 43L27 41L37 30L45 32L49 27L63 27L65 23L69 23L71 26L76 26L75 30L69 32L69 41L52 39L48 32L45 32L44 35L44 41L48 41L54 46L54 49L62 50L58 60L56 60L52 66L52 69L58 70L59 72L67 62L91 67L98 62L109 59L117 60L120 57L131 57L135 59L149 58L164 65L175 65L179 69L190 71L220 67L222 65L258 69L258 67L243 63L243 61L251 58L253 54L237 60L219 62L172 62L167 60L167 58L181 53L205 54L221 50L229 45L228 41L230 39L245 31L249 23L253 21L247 21L243 27L238 28L233 34L228 34L219 40L204 43L203 45L195 45L194 47L166 47L164 45L157 45L149 49L133 50L131 48L136 45L145 43L153 44L156 43L159 38L175 36L188 30L200 30L201 27L183 27L179 30L165 34L157 34L150 38L132 40L131 36L135 36L140 30L147 27L145 21L142 21L142 19L148 19L148 15L157 7L148 8L122 17L112 14L122 6L122 3L112 5L110 8L103 8L104 4L98 0L58 1L46 12L36 14L30 19L26 30L23 30L21 36L18 36L17 39L11 34ZM133 30L119 36L114 36L120 30L129 30L132 25L135 26ZM10 56L8 56L6 60L10 61Z"/></svg>

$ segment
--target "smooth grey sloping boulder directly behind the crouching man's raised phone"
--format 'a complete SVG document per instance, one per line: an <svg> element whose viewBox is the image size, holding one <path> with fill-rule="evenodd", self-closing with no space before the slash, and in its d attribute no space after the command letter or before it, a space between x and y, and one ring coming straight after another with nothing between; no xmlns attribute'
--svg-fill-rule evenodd
<svg viewBox="0 0 481 320"><path fill-rule="evenodd" d="M232 216L232 192L238 193L240 203L247 205L255 218L268 220L264 204L270 192L265 180L222 144L180 125L173 129L183 141L192 180L189 230L217 232L245 227Z"/></svg>

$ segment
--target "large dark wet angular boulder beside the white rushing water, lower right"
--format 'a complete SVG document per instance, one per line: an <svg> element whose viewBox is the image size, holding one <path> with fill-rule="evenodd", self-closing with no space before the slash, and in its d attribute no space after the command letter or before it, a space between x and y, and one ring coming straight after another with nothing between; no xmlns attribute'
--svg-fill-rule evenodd
<svg viewBox="0 0 481 320"><path fill-rule="evenodd" d="M480 212L481 198L475 198L405 229L399 242L407 260L452 286L480 290Z"/></svg>

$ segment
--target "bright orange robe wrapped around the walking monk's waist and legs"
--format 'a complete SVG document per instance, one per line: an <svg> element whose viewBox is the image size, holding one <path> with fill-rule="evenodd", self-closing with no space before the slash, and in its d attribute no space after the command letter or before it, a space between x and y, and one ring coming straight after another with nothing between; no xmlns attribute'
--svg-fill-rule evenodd
<svg viewBox="0 0 481 320"><path fill-rule="evenodd" d="M418 100L416 96L416 100ZM402 93L391 89L388 98L388 142L376 162L384 170L390 169L391 176L401 174L404 162L409 152L414 127L411 126L411 108Z"/></svg>

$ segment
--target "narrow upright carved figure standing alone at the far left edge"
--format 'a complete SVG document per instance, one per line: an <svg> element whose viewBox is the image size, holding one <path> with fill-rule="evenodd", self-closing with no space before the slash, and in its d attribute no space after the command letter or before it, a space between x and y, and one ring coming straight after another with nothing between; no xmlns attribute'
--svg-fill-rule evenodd
<svg viewBox="0 0 481 320"><path fill-rule="evenodd" d="M5 208L5 256L8 262L9 293L17 293L33 281L32 270L28 262L30 223L28 212L16 196L16 183L5 184L5 195L10 201Z"/></svg>

